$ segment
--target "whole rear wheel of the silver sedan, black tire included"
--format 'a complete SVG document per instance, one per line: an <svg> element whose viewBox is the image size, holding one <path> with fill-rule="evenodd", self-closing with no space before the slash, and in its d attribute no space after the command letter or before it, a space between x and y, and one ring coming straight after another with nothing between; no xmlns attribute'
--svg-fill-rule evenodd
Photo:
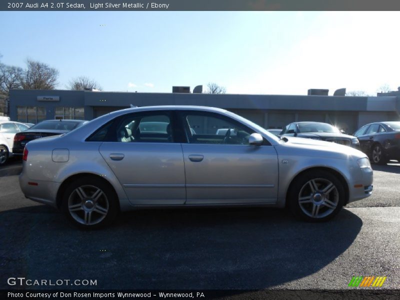
<svg viewBox="0 0 400 300"><path fill-rule="evenodd" d="M80 177L65 188L61 210L73 225L81 229L98 229L115 220L119 212L118 197L103 179Z"/></svg>

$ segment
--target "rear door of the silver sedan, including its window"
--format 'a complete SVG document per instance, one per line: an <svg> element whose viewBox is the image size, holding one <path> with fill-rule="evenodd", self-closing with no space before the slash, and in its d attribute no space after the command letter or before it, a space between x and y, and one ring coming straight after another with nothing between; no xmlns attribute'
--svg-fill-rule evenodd
<svg viewBox="0 0 400 300"><path fill-rule="evenodd" d="M134 205L183 204L182 147L175 142L171 111L135 112L96 134L99 151ZM94 138L95 140L96 138Z"/></svg>

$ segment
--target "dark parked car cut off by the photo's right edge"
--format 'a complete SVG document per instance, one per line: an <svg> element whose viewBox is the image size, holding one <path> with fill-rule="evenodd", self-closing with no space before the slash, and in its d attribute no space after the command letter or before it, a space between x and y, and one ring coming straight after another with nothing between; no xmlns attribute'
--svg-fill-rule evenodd
<svg viewBox="0 0 400 300"><path fill-rule="evenodd" d="M390 159L400 161L400 122L376 122L354 132L361 151L371 162L385 164Z"/></svg>

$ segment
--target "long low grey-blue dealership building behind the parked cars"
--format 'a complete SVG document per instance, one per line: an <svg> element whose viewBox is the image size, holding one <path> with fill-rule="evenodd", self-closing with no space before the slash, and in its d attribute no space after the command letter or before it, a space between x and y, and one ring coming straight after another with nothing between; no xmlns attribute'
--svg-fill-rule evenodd
<svg viewBox="0 0 400 300"><path fill-rule="evenodd" d="M353 132L369 122L400 120L400 91L377 96L329 96L327 90L308 90L308 95L24 89L13 89L9 93L11 120L29 123L63 118L90 120L130 105L220 107L264 128L282 128L293 121L319 121Z"/></svg>

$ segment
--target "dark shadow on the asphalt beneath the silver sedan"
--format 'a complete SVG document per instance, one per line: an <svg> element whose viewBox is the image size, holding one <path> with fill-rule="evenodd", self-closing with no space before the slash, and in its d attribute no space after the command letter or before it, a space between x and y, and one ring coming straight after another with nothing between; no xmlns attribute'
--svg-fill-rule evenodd
<svg viewBox="0 0 400 300"><path fill-rule="evenodd" d="M0 288L12 275L94 279L90 288L102 289L262 289L326 266L361 226L346 209L324 223L280 209L153 209L82 231L50 207L18 208L0 214Z"/></svg>

